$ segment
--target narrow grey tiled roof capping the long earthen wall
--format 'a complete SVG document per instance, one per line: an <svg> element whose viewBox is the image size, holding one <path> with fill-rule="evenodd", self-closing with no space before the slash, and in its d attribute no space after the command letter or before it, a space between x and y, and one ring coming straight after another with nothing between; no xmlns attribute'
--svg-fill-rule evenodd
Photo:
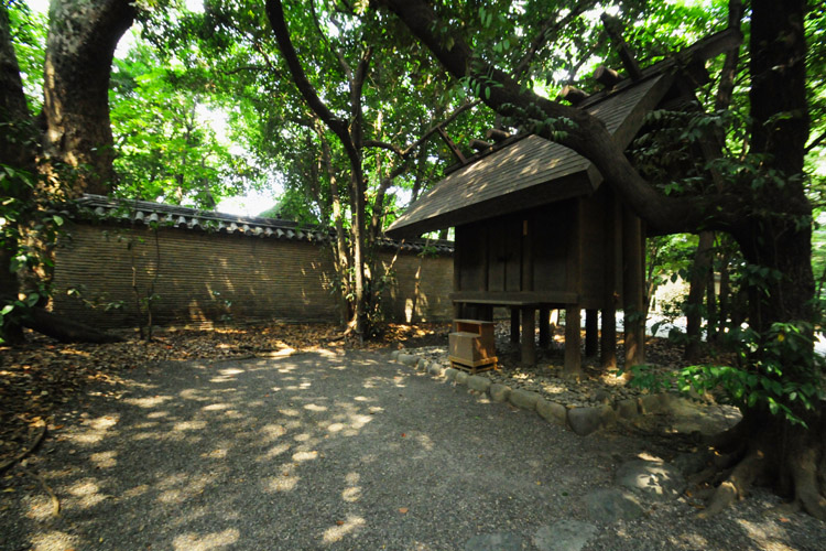
<svg viewBox="0 0 826 551"><path fill-rule="evenodd" d="M151 201L111 198L102 195L84 194L77 199L80 217L85 219L109 220L119 224L142 224L166 226L188 230L215 231L249 237L283 239L287 241L326 242L334 238L332 229L301 225L293 220L263 218L259 216L235 216L213 210L177 205L165 205ZM380 238L379 247L401 248L403 251L421 252L425 247L438 253L452 253L453 241L436 239Z"/></svg>

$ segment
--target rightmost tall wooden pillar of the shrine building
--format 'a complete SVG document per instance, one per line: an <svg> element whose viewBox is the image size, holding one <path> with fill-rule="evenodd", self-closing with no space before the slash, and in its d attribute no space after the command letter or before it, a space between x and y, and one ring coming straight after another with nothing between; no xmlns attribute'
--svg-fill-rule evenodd
<svg viewBox="0 0 826 551"><path fill-rule="evenodd" d="M624 311L626 367L645 363L643 318L642 222L629 208L622 213L622 309Z"/></svg>

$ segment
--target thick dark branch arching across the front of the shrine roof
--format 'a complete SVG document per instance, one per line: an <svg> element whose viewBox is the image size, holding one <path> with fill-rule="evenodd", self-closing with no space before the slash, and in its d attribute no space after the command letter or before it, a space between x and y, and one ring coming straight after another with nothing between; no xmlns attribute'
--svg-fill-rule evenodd
<svg viewBox="0 0 826 551"><path fill-rule="evenodd" d="M674 198L654 190L631 165L599 119L522 89L511 76L478 60L456 33L437 34L435 29L447 25L424 0L385 0L384 4L452 75L479 83L485 104L497 112L526 122L536 121L539 117L572 121L573 128L566 136L554 141L590 160L633 210L657 230L727 229L737 220L735 212L740 209L740 204L735 197ZM537 134L553 139L550 129L543 128Z"/></svg>

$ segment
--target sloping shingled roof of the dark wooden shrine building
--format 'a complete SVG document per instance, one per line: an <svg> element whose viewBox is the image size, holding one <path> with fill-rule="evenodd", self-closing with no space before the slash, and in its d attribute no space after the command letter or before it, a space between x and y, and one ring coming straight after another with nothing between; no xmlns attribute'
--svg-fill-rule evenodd
<svg viewBox="0 0 826 551"><path fill-rule="evenodd" d="M675 82L675 65L686 67L716 55L739 41L722 31L678 55L643 71L639 80L626 79L612 90L579 105L606 123L613 140L627 148ZM394 238L482 220L526 207L594 192L602 175L575 151L535 134L517 137L445 176L413 203L388 229Z"/></svg>

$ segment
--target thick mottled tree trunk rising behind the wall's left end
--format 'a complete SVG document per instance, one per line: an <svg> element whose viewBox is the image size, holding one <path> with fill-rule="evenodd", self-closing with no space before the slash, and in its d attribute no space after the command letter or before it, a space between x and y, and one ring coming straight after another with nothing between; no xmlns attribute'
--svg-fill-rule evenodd
<svg viewBox="0 0 826 551"><path fill-rule="evenodd" d="M106 194L115 180L109 74L115 48L134 20L134 2L52 0L48 15L44 152L57 174L76 171L70 195Z"/></svg>

